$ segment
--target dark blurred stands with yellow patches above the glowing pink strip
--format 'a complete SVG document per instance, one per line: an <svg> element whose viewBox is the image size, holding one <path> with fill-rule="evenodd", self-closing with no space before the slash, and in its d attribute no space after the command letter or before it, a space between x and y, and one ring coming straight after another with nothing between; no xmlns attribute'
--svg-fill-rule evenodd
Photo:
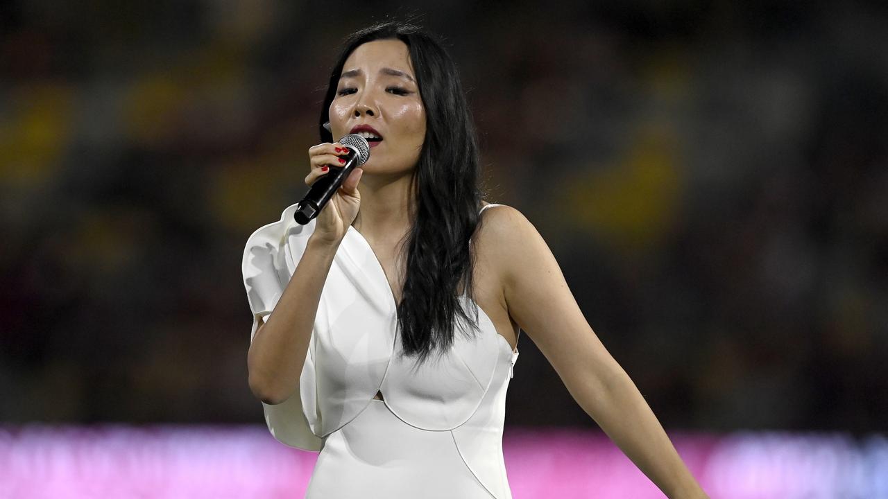
<svg viewBox="0 0 888 499"><path fill-rule="evenodd" d="M342 39L411 15L487 200L670 433L884 437L883 2L37 0L0 4L0 461L35 422L262 424L244 244L305 191ZM507 438L594 432L519 351Z"/></svg>

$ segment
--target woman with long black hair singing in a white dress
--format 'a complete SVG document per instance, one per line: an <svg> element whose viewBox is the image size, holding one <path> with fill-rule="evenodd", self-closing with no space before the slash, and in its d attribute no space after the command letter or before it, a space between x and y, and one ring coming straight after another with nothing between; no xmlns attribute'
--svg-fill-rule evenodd
<svg viewBox="0 0 888 499"><path fill-rule="evenodd" d="M307 496L510 497L503 414L523 329L664 493L705 497L534 226L481 202L440 44L393 23L356 33L320 123L306 184L344 162L333 138L365 136L369 161L305 226L294 205L260 228L243 259L250 389L275 438L321 451Z"/></svg>

